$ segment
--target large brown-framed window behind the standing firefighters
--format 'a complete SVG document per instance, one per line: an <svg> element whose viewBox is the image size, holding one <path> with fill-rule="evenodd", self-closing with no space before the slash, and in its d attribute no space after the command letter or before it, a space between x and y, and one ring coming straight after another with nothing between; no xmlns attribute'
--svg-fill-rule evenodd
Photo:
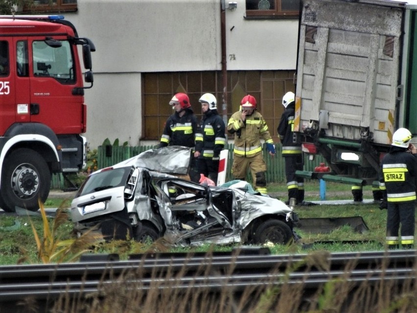
<svg viewBox="0 0 417 313"><path fill-rule="evenodd" d="M228 71L227 120L239 110L240 100L246 94L255 96L258 110L267 122L275 142L277 127L284 111L282 96L294 91L294 71ZM169 101L176 93L184 92L190 98L197 119L201 119L198 99L205 93L217 98L217 111L223 116L221 72L160 72L142 74L142 138L161 139L165 121L173 113Z"/></svg>

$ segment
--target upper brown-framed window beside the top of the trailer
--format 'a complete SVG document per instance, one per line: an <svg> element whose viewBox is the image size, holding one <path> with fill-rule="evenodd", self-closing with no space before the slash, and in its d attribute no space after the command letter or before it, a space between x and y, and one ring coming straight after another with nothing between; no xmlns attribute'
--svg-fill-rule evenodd
<svg viewBox="0 0 417 313"><path fill-rule="evenodd" d="M246 17L295 18L300 0L246 0Z"/></svg>

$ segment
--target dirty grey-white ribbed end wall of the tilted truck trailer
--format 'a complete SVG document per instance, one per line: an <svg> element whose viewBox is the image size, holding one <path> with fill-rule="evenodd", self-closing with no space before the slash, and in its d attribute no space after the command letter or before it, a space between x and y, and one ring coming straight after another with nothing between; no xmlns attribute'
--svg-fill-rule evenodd
<svg viewBox="0 0 417 313"><path fill-rule="evenodd" d="M368 132L375 143L390 143L402 12L370 3L303 1L299 130L315 121L329 137L360 140Z"/></svg>

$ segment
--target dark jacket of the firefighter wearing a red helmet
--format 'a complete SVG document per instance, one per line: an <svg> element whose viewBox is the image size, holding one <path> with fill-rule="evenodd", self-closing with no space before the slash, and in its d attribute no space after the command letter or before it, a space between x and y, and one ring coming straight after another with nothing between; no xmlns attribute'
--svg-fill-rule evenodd
<svg viewBox="0 0 417 313"><path fill-rule="evenodd" d="M197 127L197 118L191 108L186 108L185 114L182 117L180 117L178 112L175 112L166 120L162 131L160 147L167 145L194 147Z"/></svg>

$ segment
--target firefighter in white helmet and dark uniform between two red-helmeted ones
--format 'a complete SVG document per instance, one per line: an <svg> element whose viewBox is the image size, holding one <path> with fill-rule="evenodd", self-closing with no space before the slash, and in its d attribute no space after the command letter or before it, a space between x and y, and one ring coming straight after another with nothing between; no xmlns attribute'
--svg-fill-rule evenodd
<svg viewBox="0 0 417 313"><path fill-rule="evenodd" d="M225 123L217 112L217 100L212 94L204 94L198 100L203 117L195 138L194 156L200 174L217 184L220 151L226 144Z"/></svg>

